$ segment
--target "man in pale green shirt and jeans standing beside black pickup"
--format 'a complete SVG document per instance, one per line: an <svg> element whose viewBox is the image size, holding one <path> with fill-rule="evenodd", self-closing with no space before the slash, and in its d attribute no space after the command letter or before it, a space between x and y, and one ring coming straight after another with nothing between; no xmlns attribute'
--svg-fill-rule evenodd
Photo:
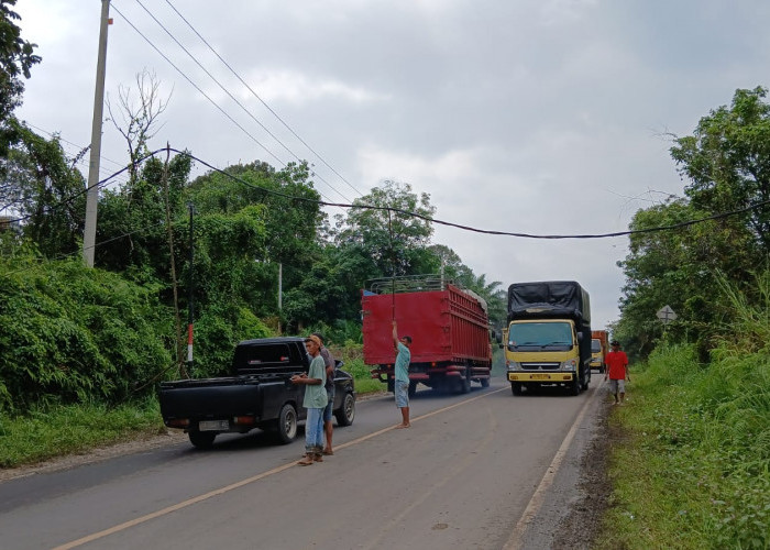
<svg viewBox="0 0 770 550"><path fill-rule="evenodd" d="M323 408L327 406L327 391L323 387L327 381L326 365L321 358L321 340L316 336L305 339L305 349L312 358L307 374L292 376L293 384L305 384L305 399L302 406L308 409L305 420L305 457L297 462L302 466L309 466L314 462L323 462Z"/></svg>

